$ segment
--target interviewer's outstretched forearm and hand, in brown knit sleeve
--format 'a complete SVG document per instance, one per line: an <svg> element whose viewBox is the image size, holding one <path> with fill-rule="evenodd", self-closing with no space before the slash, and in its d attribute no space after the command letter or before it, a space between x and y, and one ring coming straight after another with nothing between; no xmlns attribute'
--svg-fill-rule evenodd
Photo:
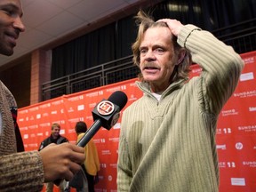
<svg viewBox="0 0 256 192"><path fill-rule="evenodd" d="M71 180L84 159L84 148L70 143L1 156L0 191L39 192L44 182Z"/></svg>

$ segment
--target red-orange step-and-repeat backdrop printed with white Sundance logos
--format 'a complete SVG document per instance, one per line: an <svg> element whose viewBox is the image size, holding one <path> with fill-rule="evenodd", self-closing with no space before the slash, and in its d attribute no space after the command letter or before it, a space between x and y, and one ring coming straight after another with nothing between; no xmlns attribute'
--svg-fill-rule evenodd
<svg viewBox="0 0 256 192"><path fill-rule="evenodd" d="M220 192L256 191L256 52L244 53L241 56L245 67L236 91L220 112L216 132ZM199 66L192 66L190 77L200 73ZM67 137L69 142L76 143L76 122L82 120L90 127L93 123L92 109L100 100L108 99L116 91L125 92L128 97L125 109L142 96L142 92L135 85L136 80L63 95L20 108L18 123L25 149L37 150L40 142L50 136L53 123L59 123L60 134ZM116 191L121 118L122 112L112 129L108 131L100 128L93 137L100 156L100 182L95 186L95 191ZM57 188L54 188L54 191L58 191Z"/></svg>

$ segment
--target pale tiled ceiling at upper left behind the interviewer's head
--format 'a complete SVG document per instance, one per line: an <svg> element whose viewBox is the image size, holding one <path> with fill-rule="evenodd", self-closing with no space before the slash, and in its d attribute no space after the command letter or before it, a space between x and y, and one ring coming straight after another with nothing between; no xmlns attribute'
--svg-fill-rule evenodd
<svg viewBox="0 0 256 192"><path fill-rule="evenodd" d="M26 31L20 34L11 57L0 55L0 67L140 2L143 0L21 0Z"/></svg>

